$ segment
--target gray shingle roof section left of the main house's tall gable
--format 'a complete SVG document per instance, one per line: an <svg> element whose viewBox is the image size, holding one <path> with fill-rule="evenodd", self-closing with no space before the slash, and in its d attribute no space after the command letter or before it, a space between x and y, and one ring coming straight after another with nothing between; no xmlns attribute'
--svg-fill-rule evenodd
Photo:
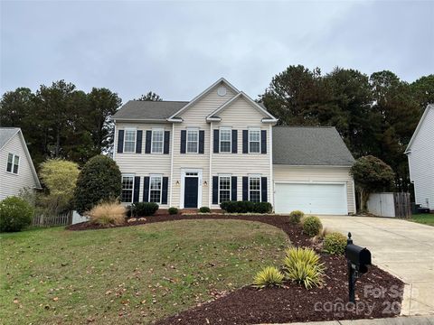
<svg viewBox="0 0 434 325"><path fill-rule="evenodd" d="M187 105L185 101L144 101L129 100L120 107L113 116L114 119L165 120Z"/></svg>

